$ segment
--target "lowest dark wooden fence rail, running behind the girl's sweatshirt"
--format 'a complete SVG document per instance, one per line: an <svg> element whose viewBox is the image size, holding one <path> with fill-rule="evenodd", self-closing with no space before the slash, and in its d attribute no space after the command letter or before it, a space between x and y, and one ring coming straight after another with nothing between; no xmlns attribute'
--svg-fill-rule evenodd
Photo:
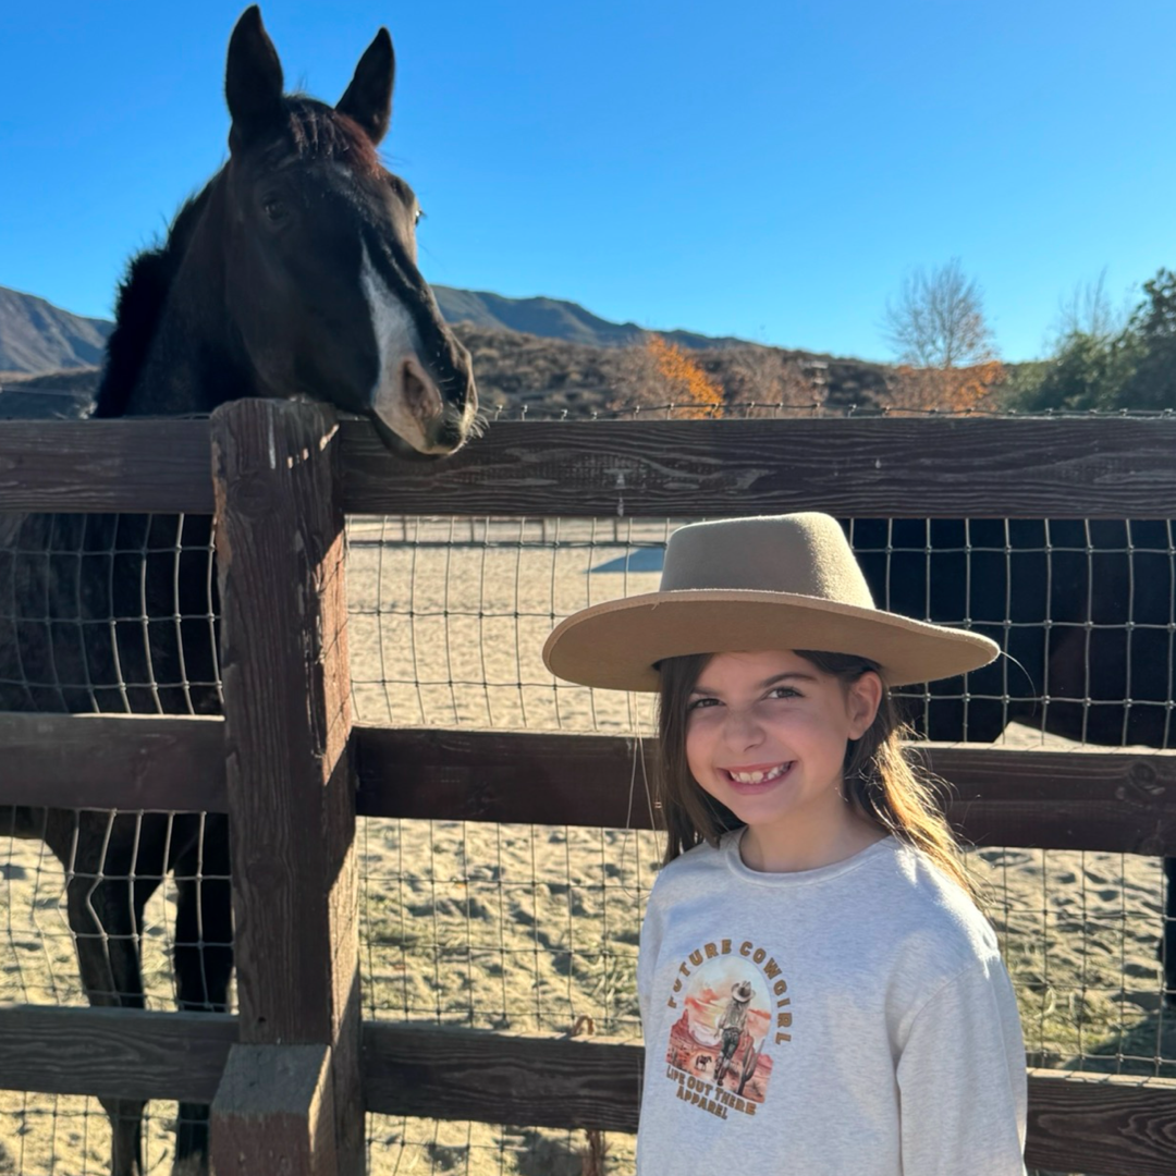
<svg viewBox="0 0 1176 1176"><path fill-rule="evenodd" d="M0 1009L0 1088L212 1101L235 1016ZM367 1021L363 1109L522 1127L634 1131L642 1047ZM1176 1080L1029 1071L1030 1164L1170 1176Z"/></svg>

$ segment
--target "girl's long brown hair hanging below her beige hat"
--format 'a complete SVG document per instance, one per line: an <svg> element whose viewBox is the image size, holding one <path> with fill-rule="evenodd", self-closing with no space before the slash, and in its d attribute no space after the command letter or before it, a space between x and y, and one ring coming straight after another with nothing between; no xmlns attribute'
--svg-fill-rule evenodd
<svg viewBox="0 0 1176 1176"><path fill-rule="evenodd" d="M809 649L795 653L838 679L847 689L862 674L878 673L877 664L866 657ZM703 841L716 846L724 833L742 824L730 809L703 791L690 775L686 759L687 703L713 656L667 657L659 667L661 756L656 783L668 834L663 864ZM903 749L902 740L909 734L883 682L874 722L861 739L850 740L846 747L842 795L878 828L921 849L975 901L976 890L964 870L960 847L935 803L930 782L916 771Z"/></svg>

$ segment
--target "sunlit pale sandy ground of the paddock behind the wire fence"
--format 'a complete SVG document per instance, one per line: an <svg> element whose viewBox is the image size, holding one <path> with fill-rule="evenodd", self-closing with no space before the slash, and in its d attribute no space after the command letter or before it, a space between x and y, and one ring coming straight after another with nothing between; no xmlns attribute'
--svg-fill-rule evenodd
<svg viewBox="0 0 1176 1176"><path fill-rule="evenodd" d="M554 689L539 650L589 601L656 587L643 544L664 524L358 521L349 590L360 722L649 730L648 699ZM407 541L407 546L401 546ZM559 546L553 546L555 543ZM636 543L636 548L630 547ZM628 570L595 572L636 550ZM644 554L642 554L644 553ZM642 563L642 560L646 562ZM642 568L652 568L642 570ZM1010 728L1005 740L1041 742ZM1050 743L1056 741L1050 740ZM640 1036L637 928L652 834L456 822L361 822L365 1016L564 1033L582 1016ZM1002 935L1030 1061L1176 1076L1176 1014L1160 1002L1158 861L1081 851L970 855ZM141 928L148 1007L169 1009L167 889ZM64 874L38 842L0 838L0 1003L81 1004ZM148 1171L171 1170L174 1104L151 1107ZM368 1117L373 1174L580 1176L582 1132ZM632 1171L608 1138L604 1170ZM105 1172L96 1102L0 1091L0 1174Z"/></svg>

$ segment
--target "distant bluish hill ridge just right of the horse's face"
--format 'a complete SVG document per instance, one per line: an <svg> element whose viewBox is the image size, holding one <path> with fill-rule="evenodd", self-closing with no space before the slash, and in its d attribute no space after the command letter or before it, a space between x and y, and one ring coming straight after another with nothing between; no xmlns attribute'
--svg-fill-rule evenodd
<svg viewBox="0 0 1176 1176"><path fill-rule="evenodd" d="M640 342L650 332L635 322L609 322L586 310L576 302L554 298L503 298L481 290L459 290L452 286L434 286L441 313L448 322L472 322L475 327L521 330L541 339L563 339L569 343L594 347L624 347ZM690 330L659 330L656 334L680 347L746 346L742 339L700 335Z"/></svg>

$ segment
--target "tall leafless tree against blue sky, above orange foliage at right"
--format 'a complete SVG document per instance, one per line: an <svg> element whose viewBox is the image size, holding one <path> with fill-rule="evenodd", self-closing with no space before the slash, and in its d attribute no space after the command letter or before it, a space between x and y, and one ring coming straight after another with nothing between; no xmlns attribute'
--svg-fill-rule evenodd
<svg viewBox="0 0 1176 1176"><path fill-rule="evenodd" d="M887 300L882 329L900 363L941 370L985 363L995 350L982 301L958 258L918 267L903 279L897 300Z"/></svg>

